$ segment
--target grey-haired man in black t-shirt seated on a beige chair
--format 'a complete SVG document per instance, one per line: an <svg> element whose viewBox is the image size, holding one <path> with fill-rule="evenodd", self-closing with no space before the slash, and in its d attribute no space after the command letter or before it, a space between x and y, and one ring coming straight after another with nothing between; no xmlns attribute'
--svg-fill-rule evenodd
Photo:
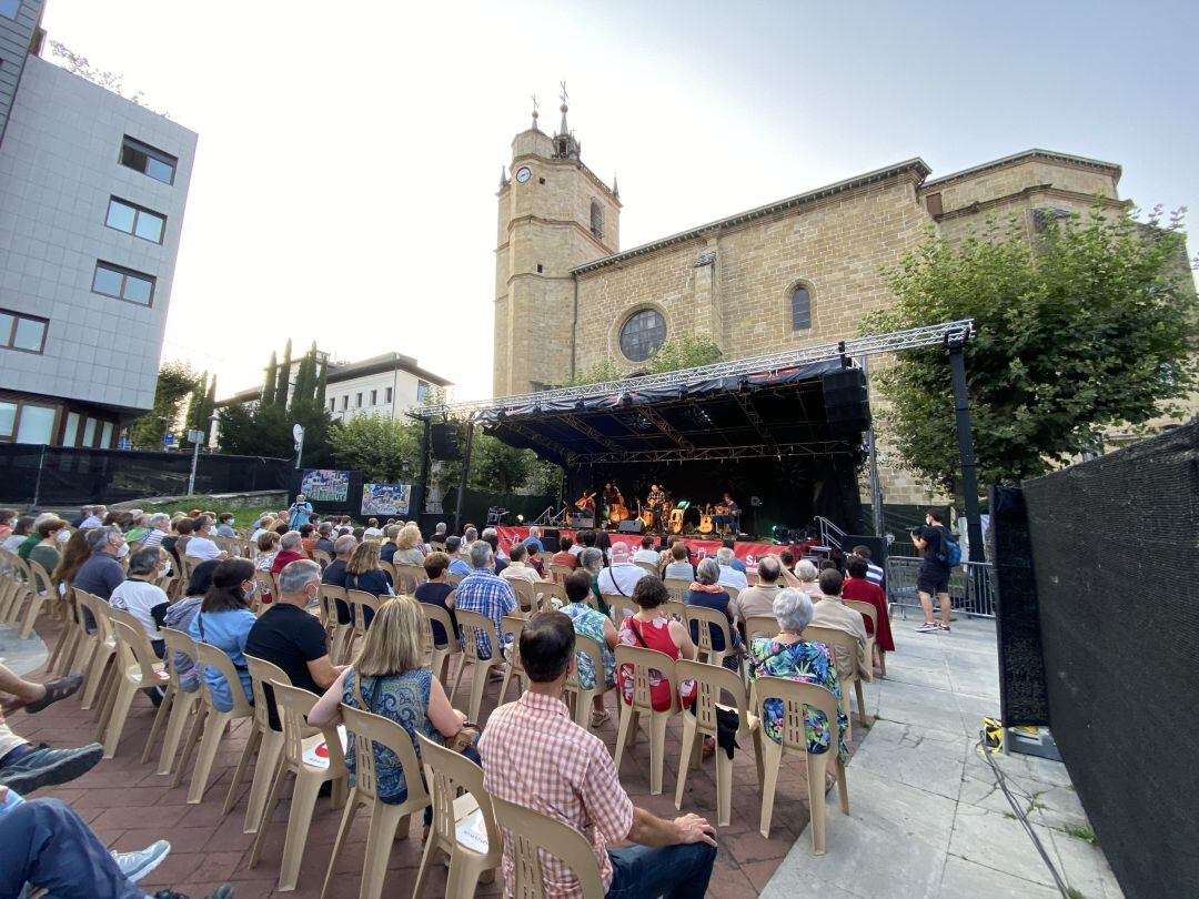
<svg viewBox="0 0 1199 899"><path fill-rule="evenodd" d="M320 695L342 674L329 658L325 628L307 609L320 591L320 566L307 559L288 563L279 572L278 601L254 622L246 638L246 654L271 662L291 678L293 687ZM279 730L275 692L265 686L271 728Z"/></svg>

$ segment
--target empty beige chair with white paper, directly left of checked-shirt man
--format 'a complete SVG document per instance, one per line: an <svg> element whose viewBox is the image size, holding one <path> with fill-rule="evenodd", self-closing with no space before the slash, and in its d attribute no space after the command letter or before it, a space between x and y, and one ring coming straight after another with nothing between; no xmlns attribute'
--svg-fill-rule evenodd
<svg viewBox="0 0 1199 899"><path fill-rule="evenodd" d="M495 823L492 797L483 789L483 770L460 753L434 743L423 734L417 734L416 740L421 746L424 779L433 794L433 826L424 843L412 899L421 899L433 855L439 850L450 856L445 894L472 897L480 879L489 882L504 857L504 837ZM463 791L462 796L458 795L459 790ZM458 827L476 811L482 816L487 831L486 852L458 841Z"/></svg>

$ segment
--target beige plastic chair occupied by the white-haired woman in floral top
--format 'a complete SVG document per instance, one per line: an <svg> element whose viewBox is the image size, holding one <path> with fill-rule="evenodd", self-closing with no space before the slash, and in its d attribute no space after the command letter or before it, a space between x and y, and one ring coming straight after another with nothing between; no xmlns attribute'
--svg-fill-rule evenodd
<svg viewBox="0 0 1199 899"><path fill-rule="evenodd" d="M784 755L801 755L808 764L808 806L812 809L812 851L825 852L825 768L827 753L808 753L808 738L803 730L803 708L817 710L829 720L833 754L837 767L837 794L840 810L849 814L849 788L845 784L845 765L837 759L837 698L814 683L791 681L785 677L759 677L753 682L751 704L760 718L763 704L767 699L783 702L783 742L776 743L763 735L761 755L764 778L761 788L761 819L759 832L770 839L770 822L775 814L775 790L778 786L778 768Z"/></svg>

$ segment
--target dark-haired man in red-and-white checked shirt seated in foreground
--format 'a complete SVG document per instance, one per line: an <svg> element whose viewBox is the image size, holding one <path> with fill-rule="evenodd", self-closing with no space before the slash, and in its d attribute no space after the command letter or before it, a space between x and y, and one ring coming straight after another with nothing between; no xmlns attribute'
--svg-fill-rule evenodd
<svg viewBox="0 0 1199 899"><path fill-rule="evenodd" d="M529 689L492 712L478 742L488 792L586 837L609 895L700 899L716 861L715 828L699 815L667 821L633 806L603 741L571 720L562 701L562 684L576 664L571 619L560 611L534 615L520 634L520 660ZM634 845L608 849L625 840ZM583 895L561 859L544 850L538 853L548 899ZM507 831L504 879L507 894L513 894Z"/></svg>

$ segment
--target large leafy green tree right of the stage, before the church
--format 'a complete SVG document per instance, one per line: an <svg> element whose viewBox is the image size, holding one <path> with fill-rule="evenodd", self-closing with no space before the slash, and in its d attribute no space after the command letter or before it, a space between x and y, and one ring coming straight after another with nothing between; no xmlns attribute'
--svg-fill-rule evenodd
<svg viewBox="0 0 1199 899"><path fill-rule="evenodd" d="M890 272L892 308L863 333L972 318L965 348L980 483L1042 475L1113 424L1169 411L1195 384L1199 321L1181 218L1162 227L1098 204L1065 221L992 222L954 246L930 235ZM1181 277L1180 277L1181 274ZM904 465L957 493L950 367L910 350L878 375Z"/></svg>

